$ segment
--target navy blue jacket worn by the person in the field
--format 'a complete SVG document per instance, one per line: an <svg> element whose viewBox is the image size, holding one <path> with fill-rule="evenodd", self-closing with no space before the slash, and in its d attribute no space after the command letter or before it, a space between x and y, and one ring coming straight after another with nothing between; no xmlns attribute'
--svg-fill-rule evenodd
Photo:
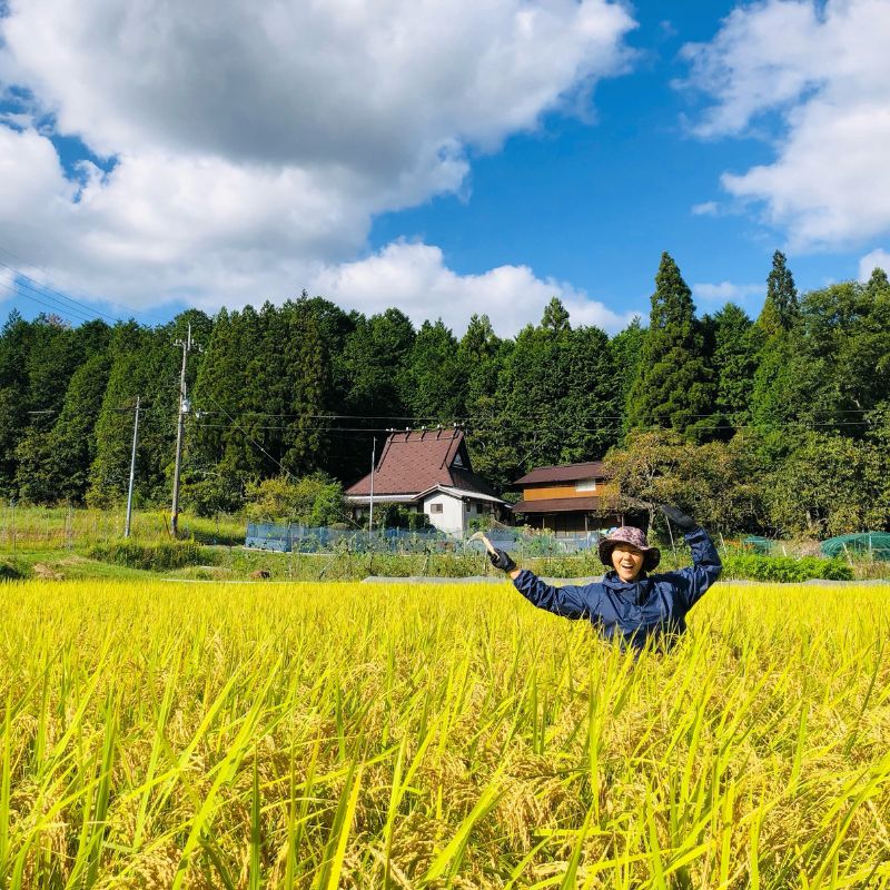
<svg viewBox="0 0 890 890"><path fill-rule="evenodd" d="M586 619L606 640L642 649L650 636L670 645L686 630L686 612L718 580L722 568L716 547L704 528L686 536L692 566L663 575L641 574L622 581L615 571L593 584L554 587L523 568L514 580L516 590L533 605L566 619Z"/></svg>

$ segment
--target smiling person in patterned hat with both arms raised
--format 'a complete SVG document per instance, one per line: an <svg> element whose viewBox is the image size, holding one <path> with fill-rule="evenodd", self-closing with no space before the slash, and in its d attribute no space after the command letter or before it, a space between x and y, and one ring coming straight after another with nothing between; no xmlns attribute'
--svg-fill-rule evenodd
<svg viewBox="0 0 890 890"><path fill-rule="evenodd" d="M686 613L718 580L722 564L708 533L675 507L661 506L692 548L692 565L675 572L650 574L661 561L641 528L616 528L600 542L600 560L610 571L602 581L577 586L545 584L520 568L503 550L490 554L516 590L538 609L566 619L586 619L606 640L642 649L650 637L670 645L686 630Z"/></svg>

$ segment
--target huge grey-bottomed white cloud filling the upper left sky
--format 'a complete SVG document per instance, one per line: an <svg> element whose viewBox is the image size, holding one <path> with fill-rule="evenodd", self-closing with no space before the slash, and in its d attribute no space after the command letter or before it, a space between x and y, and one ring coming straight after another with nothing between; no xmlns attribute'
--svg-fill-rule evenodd
<svg viewBox="0 0 890 890"><path fill-rule="evenodd" d="M606 0L4 6L0 88L27 98L0 121L0 238L132 308L298 293L375 215L462 189L467 149L624 70L634 26Z"/></svg>

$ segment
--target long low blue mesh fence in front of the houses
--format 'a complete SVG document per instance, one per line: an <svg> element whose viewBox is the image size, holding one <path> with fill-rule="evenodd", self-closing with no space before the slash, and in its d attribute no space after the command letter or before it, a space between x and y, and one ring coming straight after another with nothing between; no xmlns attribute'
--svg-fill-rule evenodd
<svg viewBox="0 0 890 890"><path fill-rule="evenodd" d="M557 537L498 528L485 534L496 547L525 556L580 553L595 547L600 542L596 532ZM368 532L270 523L248 523L245 546L281 553L465 553L485 548L481 541L461 541L436 530L385 528Z"/></svg>

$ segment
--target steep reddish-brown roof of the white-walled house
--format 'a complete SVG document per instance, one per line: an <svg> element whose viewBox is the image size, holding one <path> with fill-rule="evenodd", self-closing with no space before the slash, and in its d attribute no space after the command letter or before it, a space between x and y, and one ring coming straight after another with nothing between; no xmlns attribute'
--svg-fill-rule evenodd
<svg viewBox="0 0 890 890"><path fill-rule="evenodd" d="M458 455L462 467L453 466ZM462 429L390 434L374 471L375 500L377 495L417 494L436 485L451 485L497 497L485 479L473 472ZM370 495L370 473L345 493Z"/></svg>

